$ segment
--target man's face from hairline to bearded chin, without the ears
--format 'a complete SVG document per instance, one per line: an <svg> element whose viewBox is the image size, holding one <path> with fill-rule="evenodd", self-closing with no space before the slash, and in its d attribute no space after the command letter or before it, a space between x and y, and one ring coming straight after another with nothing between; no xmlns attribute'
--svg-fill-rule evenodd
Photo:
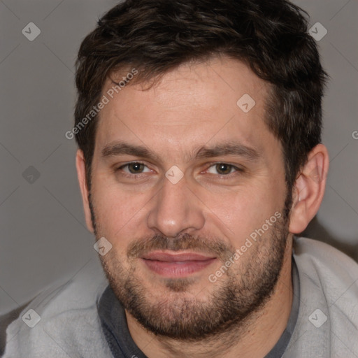
<svg viewBox="0 0 358 358"><path fill-rule="evenodd" d="M275 286L287 192L266 90L241 62L212 59L149 89L129 84L101 110L91 202L96 237L112 244L103 268L127 313L158 334L218 332Z"/></svg>

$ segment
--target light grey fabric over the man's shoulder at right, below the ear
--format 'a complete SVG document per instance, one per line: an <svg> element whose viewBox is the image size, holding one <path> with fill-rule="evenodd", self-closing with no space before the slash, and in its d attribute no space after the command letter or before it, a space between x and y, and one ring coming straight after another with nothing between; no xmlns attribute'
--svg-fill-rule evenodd
<svg viewBox="0 0 358 358"><path fill-rule="evenodd" d="M300 308L284 357L351 357L358 352L358 264L336 248L295 238ZM298 354L298 355L297 355Z"/></svg>

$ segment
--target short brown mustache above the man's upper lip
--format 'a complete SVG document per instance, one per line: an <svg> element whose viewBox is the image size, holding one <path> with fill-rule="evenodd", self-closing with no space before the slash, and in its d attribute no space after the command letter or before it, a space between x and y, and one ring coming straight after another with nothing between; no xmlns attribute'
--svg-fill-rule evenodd
<svg viewBox="0 0 358 358"><path fill-rule="evenodd" d="M162 235L155 235L151 238L134 241L129 245L127 256L135 259L148 254L154 250L192 250L193 252L215 255L215 257L226 261L234 253L234 249L227 243L217 239L205 239L190 234L182 234L175 238L168 238Z"/></svg>

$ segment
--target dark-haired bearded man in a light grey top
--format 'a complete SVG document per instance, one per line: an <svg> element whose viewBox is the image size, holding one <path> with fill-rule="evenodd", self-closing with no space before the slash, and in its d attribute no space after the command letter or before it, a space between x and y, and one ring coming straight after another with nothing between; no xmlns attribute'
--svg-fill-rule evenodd
<svg viewBox="0 0 358 358"><path fill-rule="evenodd" d="M325 78L284 0L104 15L66 136L108 281L36 297L4 357L358 357L357 264L296 236L324 195Z"/></svg>

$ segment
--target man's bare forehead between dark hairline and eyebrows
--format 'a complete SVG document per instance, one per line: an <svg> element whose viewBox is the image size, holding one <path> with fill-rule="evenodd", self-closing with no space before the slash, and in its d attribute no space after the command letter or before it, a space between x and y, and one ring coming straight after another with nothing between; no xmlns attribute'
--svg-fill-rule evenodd
<svg viewBox="0 0 358 358"><path fill-rule="evenodd" d="M264 124L267 85L237 60L183 64L151 86L128 80L113 98L112 80L103 87L109 101L99 114L97 153L123 140L177 158L207 143L240 141L260 152L275 142Z"/></svg>

